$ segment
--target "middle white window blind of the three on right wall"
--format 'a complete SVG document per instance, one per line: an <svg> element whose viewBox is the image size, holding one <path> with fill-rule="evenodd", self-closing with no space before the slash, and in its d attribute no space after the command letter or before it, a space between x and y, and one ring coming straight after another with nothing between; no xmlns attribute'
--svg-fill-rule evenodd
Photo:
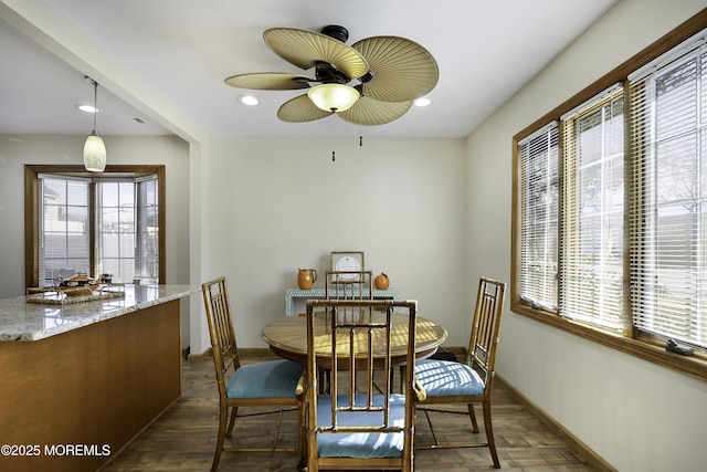
<svg viewBox="0 0 707 472"><path fill-rule="evenodd" d="M563 117L560 315L623 318L624 99L614 86Z"/></svg>

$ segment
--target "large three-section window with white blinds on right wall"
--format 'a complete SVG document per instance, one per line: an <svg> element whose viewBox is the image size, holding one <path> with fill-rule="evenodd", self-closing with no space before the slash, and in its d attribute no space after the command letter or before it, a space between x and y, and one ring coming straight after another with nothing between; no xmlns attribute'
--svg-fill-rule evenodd
<svg viewBox="0 0 707 472"><path fill-rule="evenodd" d="M513 303L707 349L707 30L656 56L518 140Z"/></svg>

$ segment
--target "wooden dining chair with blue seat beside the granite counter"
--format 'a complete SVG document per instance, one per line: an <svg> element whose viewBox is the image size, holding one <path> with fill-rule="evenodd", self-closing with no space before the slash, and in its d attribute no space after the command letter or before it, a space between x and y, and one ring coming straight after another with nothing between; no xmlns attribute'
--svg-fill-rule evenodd
<svg viewBox="0 0 707 472"><path fill-rule="evenodd" d="M219 436L211 471L218 469L223 451L297 451L299 464L304 464L305 443L304 434L300 433L304 431L304 409L299 408L300 401L295 395L297 381L302 376L302 366L284 359L241 365L225 277L205 282L201 287L219 387ZM278 407L271 411L254 413L279 415L273 443L261 448L224 445L225 438L230 438L233 432L235 419L239 417L239 407L263 406ZM299 411L297 448L277 445L282 412L285 408L297 408Z"/></svg>

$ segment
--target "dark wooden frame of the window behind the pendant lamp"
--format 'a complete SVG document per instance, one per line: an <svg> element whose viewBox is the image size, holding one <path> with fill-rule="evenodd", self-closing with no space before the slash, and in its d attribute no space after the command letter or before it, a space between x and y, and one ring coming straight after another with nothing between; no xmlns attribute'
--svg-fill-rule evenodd
<svg viewBox="0 0 707 472"><path fill-rule="evenodd" d="M56 174L74 177L87 177L92 179L127 177L152 174L157 176L158 183L158 224L159 224L159 283L167 280L166 261L166 168L158 166L130 166L107 165L103 174L88 172L81 165L25 165L24 166L24 286L25 289L39 286L39 214L38 214L38 186L39 175ZM91 234L91 247L95 248L94 232Z"/></svg>

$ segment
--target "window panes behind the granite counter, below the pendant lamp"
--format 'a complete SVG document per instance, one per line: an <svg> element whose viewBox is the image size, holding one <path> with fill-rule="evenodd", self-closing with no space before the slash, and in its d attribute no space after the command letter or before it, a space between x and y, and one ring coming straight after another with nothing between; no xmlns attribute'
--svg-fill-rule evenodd
<svg viewBox="0 0 707 472"><path fill-rule="evenodd" d="M123 283L159 281L157 176L82 179L41 175L39 182L41 285L53 285L78 272L109 273L114 282ZM94 193L96 198L91 197Z"/></svg>

